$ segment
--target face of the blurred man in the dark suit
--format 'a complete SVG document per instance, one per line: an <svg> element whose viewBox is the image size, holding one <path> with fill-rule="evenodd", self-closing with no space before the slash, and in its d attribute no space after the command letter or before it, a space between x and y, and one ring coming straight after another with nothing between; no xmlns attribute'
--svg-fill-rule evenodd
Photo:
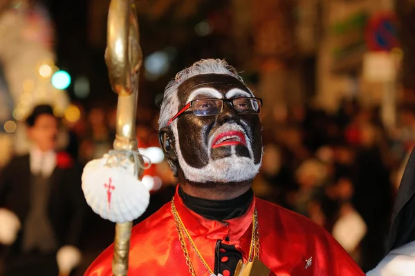
<svg viewBox="0 0 415 276"><path fill-rule="evenodd" d="M53 115L39 115L33 126L28 128L28 136L42 151L54 150L57 138L57 119Z"/></svg>

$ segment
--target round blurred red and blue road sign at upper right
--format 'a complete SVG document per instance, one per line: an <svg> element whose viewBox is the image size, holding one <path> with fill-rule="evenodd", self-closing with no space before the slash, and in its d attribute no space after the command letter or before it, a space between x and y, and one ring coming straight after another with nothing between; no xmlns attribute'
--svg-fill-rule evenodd
<svg viewBox="0 0 415 276"><path fill-rule="evenodd" d="M374 14L365 30L365 40L370 51L390 51L399 46L396 17L393 12Z"/></svg>

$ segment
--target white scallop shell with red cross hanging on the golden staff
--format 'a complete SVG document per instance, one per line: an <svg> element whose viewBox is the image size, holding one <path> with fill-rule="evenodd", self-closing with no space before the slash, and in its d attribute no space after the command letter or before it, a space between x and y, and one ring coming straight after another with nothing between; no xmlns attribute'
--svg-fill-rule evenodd
<svg viewBox="0 0 415 276"><path fill-rule="evenodd" d="M103 219L127 222L137 219L149 205L149 190L130 166L109 167L107 156L89 161L82 173L86 203Z"/></svg>

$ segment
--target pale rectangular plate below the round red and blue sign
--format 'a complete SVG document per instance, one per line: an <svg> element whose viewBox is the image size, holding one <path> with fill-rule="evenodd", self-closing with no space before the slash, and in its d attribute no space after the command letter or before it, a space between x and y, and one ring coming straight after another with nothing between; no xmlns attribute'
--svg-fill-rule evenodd
<svg viewBox="0 0 415 276"><path fill-rule="evenodd" d="M389 52L368 52L363 57L363 76L367 81L394 81L396 59Z"/></svg>

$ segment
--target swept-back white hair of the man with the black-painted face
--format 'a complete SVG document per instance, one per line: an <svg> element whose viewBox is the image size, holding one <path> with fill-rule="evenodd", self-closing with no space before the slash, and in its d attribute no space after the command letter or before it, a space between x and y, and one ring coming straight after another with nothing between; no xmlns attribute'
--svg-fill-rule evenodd
<svg viewBox="0 0 415 276"><path fill-rule="evenodd" d="M221 59L201 59L193 63L189 68L185 68L177 73L176 77L170 81L164 92L163 103L160 108L160 119L158 119L159 129L167 126L169 119L176 114L178 108L177 88L186 79L202 74L226 74L239 79L243 83L243 79L238 75L235 68L230 66L225 60Z"/></svg>

